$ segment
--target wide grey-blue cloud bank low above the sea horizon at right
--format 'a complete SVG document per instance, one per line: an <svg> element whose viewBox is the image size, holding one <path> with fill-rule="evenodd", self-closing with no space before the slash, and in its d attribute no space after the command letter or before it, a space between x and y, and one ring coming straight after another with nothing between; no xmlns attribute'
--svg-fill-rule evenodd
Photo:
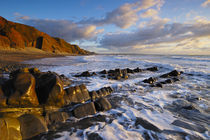
<svg viewBox="0 0 210 140"><path fill-rule="evenodd" d="M169 49L169 46L172 45L176 48L179 42L210 37L210 22L203 20L193 23L168 23L167 19L155 18L145 24L144 27L139 27L132 32L105 34L100 41L100 47L109 50L114 48L118 52L126 49L133 52L138 49L148 49L154 52L153 49L158 46L164 49L166 49L165 46L168 46ZM190 45L192 46L188 43L188 46Z"/></svg>

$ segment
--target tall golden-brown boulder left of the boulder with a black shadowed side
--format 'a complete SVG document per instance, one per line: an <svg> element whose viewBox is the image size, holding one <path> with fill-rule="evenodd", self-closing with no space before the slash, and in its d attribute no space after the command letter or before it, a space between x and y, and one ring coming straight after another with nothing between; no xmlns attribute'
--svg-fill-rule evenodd
<svg viewBox="0 0 210 140"><path fill-rule="evenodd" d="M12 106L38 106L35 92L35 78L30 73L19 73L13 81L14 93L9 96L8 104Z"/></svg>

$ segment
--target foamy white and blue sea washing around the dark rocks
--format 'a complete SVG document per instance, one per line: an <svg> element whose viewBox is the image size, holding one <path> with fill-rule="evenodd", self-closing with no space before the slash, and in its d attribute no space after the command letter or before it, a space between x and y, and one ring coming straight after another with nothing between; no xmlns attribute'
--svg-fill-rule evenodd
<svg viewBox="0 0 210 140"><path fill-rule="evenodd" d="M117 99L117 107L96 114L107 116L106 122L97 122L74 133L57 132L57 140L90 139L91 133L104 140L210 139L210 56L88 55L24 63L37 65L41 71L64 74L74 81L73 85L84 83L89 91L106 86L114 89L111 96ZM98 75L74 77L84 71L153 66L159 70L129 74L127 80L110 80ZM164 84L163 88L142 82L172 70L183 72L180 81Z"/></svg>

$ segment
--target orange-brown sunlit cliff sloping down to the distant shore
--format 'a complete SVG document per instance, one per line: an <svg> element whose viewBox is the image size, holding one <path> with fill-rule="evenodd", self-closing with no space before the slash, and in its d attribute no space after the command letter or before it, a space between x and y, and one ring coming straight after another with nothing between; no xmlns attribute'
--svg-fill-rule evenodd
<svg viewBox="0 0 210 140"><path fill-rule="evenodd" d="M0 49L34 47L46 52L89 54L90 52L54 38L34 27L14 23L0 16Z"/></svg>

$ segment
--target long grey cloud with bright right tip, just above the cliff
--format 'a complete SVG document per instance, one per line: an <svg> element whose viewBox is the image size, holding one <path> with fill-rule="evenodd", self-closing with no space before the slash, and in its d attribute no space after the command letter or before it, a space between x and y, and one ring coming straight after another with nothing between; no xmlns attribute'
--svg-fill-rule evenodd
<svg viewBox="0 0 210 140"><path fill-rule="evenodd" d="M78 25L70 20L32 19L28 16L18 16L16 20L69 42L91 39L103 32L103 29L96 29L95 25Z"/></svg>

